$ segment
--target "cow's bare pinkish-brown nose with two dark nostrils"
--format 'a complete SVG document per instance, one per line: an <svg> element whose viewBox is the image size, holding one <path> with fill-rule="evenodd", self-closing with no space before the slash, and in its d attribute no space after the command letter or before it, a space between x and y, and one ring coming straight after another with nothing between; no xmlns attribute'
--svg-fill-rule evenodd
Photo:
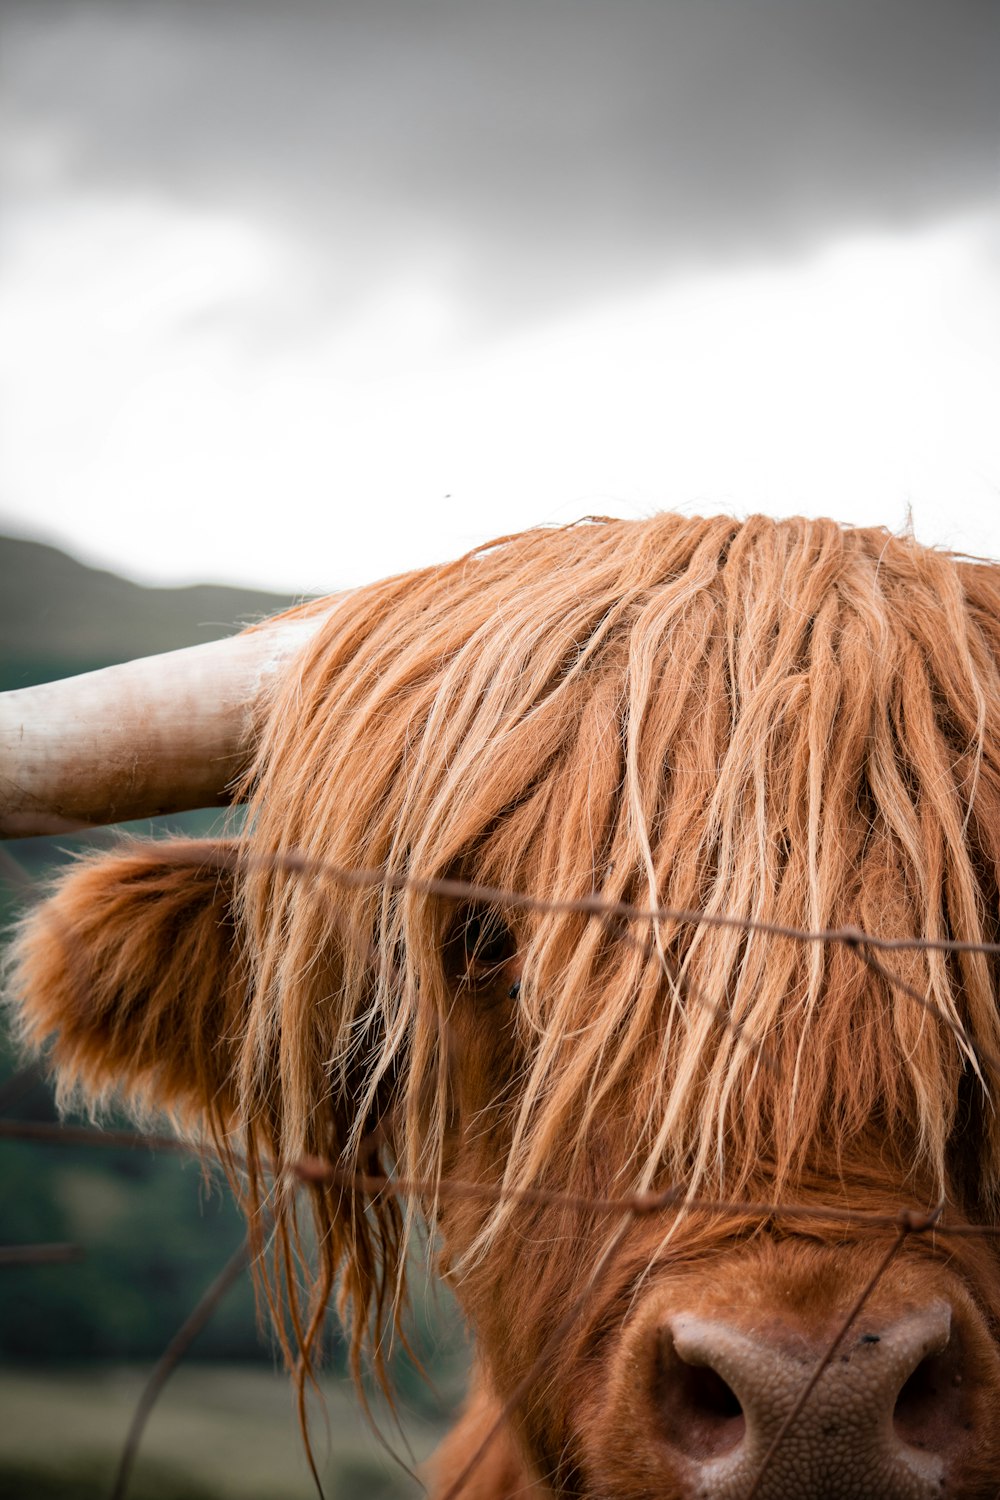
<svg viewBox="0 0 1000 1500"><path fill-rule="evenodd" d="M942 1300L862 1320L769 1454L829 1336L675 1314L660 1330L655 1394L691 1500L742 1500L756 1480L756 1500L940 1500L970 1440L951 1328Z"/></svg>

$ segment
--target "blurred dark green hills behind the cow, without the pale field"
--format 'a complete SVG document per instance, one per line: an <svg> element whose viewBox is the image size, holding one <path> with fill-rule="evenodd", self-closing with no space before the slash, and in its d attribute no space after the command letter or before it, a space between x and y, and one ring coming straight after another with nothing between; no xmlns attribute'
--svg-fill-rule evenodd
<svg viewBox="0 0 1000 1500"><path fill-rule="evenodd" d="M282 594L210 585L142 588L55 548L0 537L0 688L196 645L289 603ZM199 819L208 818L195 813L169 822L198 831ZM0 936L34 882L75 843L28 838L0 848ZM48 1089L30 1076L6 1096L15 1070L0 1026L0 1112L54 1119ZM4 1274L12 1280L0 1299L0 1359L160 1350L241 1234L226 1194L205 1204L196 1167L144 1150L0 1142L0 1239L31 1244L63 1236L85 1251L81 1264L66 1268L69 1275L60 1269L52 1275L51 1268L39 1275L31 1266ZM226 1358L258 1352L247 1287L213 1322L202 1348ZM3 1484L0 1461L0 1494L10 1492Z"/></svg>

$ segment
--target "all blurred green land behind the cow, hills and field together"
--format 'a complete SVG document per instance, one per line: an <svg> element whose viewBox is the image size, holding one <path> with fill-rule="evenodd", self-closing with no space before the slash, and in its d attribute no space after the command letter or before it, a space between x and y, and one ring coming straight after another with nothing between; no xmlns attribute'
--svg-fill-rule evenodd
<svg viewBox="0 0 1000 1500"><path fill-rule="evenodd" d="M289 603L282 594L210 585L142 588L55 548L0 537L0 688L195 645ZM201 834L213 820L211 812L195 812L132 825L132 831ZM97 844L106 837L100 831ZM73 849L91 842L66 836L0 846L0 944L6 922L25 909L42 882ZM19 1071L4 1024L0 1016L0 1116L52 1122L49 1088L40 1071ZM144 1148L19 1138L0 1140L0 1242L72 1244L82 1252L64 1266L3 1272L0 1408L10 1407L12 1416L0 1422L0 1500L106 1494L136 1400L136 1377L121 1362L135 1365L162 1353L240 1244L240 1214L225 1188L207 1191L196 1161ZM423 1270L414 1282L426 1286ZM435 1306L427 1292L418 1292L411 1334L421 1366L444 1390L444 1407L453 1408L465 1354L448 1306L447 1299ZM217 1374L216 1360L226 1362ZM343 1342L333 1334L331 1372L342 1374L345 1362ZM267 1332L261 1336L244 1278L199 1334L157 1408L135 1474L136 1497L264 1500L312 1492L303 1479L286 1384L271 1376L271 1364L273 1350ZM441 1402L406 1360L396 1383L408 1440L423 1454L439 1434ZM400 1478L402 1470L387 1473L361 1446L355 1402L334 1386L327 1389L333 1390L322 1440L327 1492L409 1496L414 1486ZM16 1410L10 1406L15 1392ZM253 1412L249 1426L246 1419L238 1425L243 1406ZM97 1422L96 1412L106 1420ZM316 1428L324 1432L322 1416ZM258 1434L256 1444L247 1434Z"/></svg>

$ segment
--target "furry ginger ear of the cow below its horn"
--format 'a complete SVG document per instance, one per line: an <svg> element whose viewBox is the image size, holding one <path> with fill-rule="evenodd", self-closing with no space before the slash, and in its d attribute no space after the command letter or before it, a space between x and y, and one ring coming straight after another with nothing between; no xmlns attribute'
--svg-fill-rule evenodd
<svg viewBox="0 0 1000 1500"><path fill-rule="evenodd" d="M232 873L211 849L204 864L180 842L88 856L21 922L15 1024L31 1050L49 1044L63 1100L120 1095L187 1128L231 1119L246 984Z"/></svg>

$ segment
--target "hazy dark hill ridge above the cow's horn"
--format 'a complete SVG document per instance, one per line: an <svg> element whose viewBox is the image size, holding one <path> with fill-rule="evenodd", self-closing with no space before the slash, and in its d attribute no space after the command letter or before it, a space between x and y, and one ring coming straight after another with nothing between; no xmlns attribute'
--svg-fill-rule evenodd
<svg viewBox="0 0 1000 1500"><path fill-rule="evenodd" d="M292 603L222 584L145 588L45 543L0 537L0 688L216 640Z"/></svg>

